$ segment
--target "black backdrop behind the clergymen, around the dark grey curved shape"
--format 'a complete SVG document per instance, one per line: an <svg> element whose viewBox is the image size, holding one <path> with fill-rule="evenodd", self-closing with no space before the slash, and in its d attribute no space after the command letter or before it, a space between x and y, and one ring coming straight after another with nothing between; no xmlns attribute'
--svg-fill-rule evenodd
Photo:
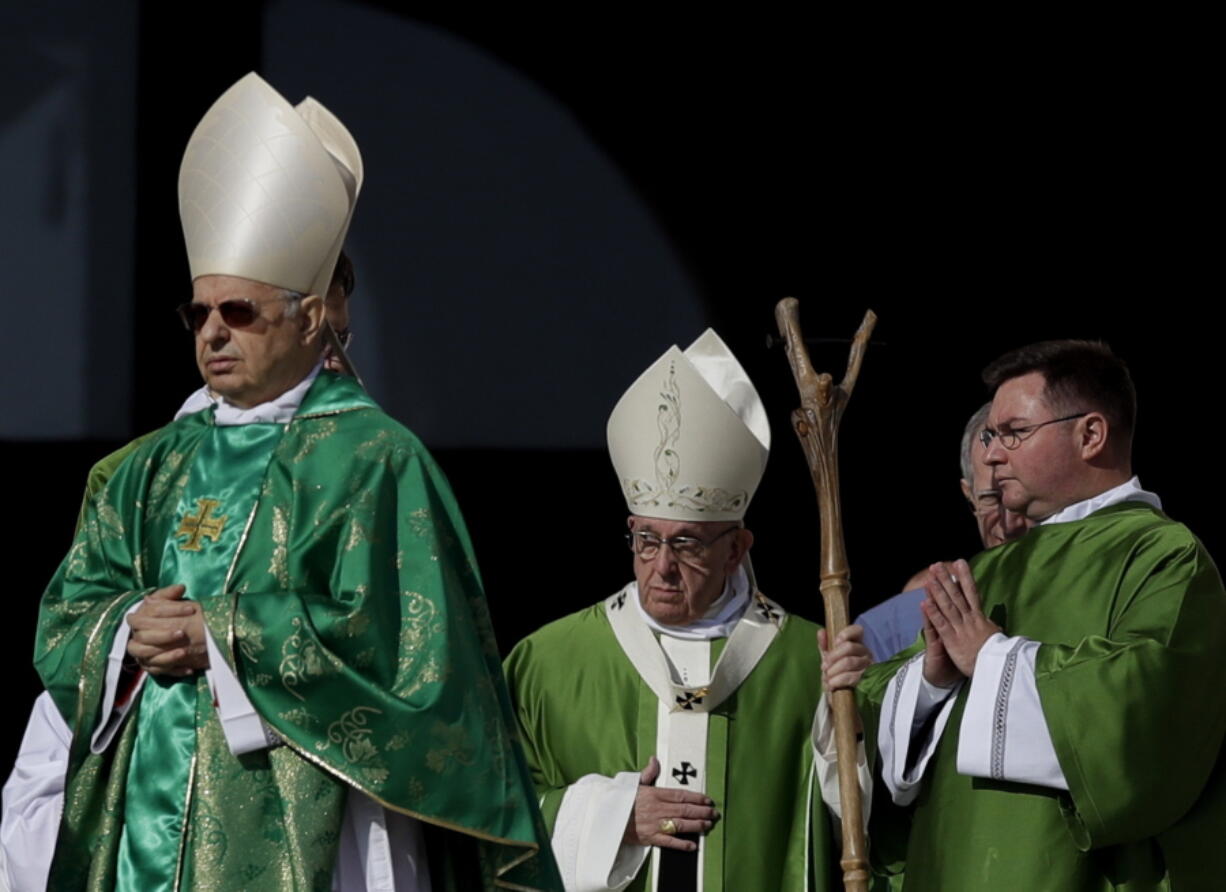
<svg viewBox="0 0 1226 892"><path fill-rule="evenodd" d="M1220 284L1206 225L1217 143L1189 23L380 6L525 74L646 202L770 412L771 464L748 520L760 583L791 609L820 619L817 511L787 428L796 395L782 353L765 347L774 303L788 294L813 336L850 336L869 306L880 316L842 437L856 609L934 559L975 550L955 450L986 396L978 370L1048 337L1105 338L1129 361L1138 472L1221 553L1211 504ZM216 11L185 27L180 7L140 6L131 336L141 348L119 360L135 372L132 434L163 423L195 386L163 311L164 283L188 278L174 198L183 145L222 89L260 69L268 37L260 4ZM7 305L12 323L20 306ZM650 342L651 314L638 312ZM846 348L813 355L841 374ZM18 482L6 524L16 712L38 690L36 594L67 548L86 471L120 442L4 444ZM468 518L504 649L629 577L603 451L435 455ZM574 494L582 499L562 497ZM5 763L18 735L7 728Z"/></svg>

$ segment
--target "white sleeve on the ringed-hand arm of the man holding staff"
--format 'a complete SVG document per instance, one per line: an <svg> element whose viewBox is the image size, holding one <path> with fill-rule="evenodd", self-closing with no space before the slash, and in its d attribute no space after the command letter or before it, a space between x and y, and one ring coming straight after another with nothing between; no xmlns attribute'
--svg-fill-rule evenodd
<svg viewBox="0 0 1226 892"><path fill-rule="evenodd" d="M586 774L566 789L553 830L566 892L622 890L638 876L650 847L622 842L638 794L635 771Z"/></svg>

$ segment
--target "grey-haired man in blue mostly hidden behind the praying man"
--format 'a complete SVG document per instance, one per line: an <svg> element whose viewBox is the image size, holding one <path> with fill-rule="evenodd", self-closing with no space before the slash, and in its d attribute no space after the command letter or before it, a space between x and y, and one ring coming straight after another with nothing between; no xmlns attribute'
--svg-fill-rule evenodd
<svg viewBox="0 0 1226 892"><path fill-rule="evenodd" d="M983 461L987 450L980 434L987 425L991 408L992 403L983 403L971 415L971 420L962 430L962 446L959 452L962 469L959 485L962 488L962 497L971 506L971 513L975 515L983 548L994 548L1016 539L1034 526L1032 521L1007 511L1000 505L1000 491L992 483L992 468ZM923 587L927 581L928 570L921 570L907 580L901 594L895 594L856 618L856 624L864 629L864 643L873 653L874 660L889 659L915 643L923 625L920 602L924 598Z"/></svg>

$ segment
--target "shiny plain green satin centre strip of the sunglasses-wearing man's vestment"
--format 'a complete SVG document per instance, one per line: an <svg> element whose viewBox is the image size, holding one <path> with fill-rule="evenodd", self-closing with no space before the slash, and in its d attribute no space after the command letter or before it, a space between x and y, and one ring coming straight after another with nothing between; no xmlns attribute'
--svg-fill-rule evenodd
<svg viewBox="0 0 1226 892"><path fill-rule="evenodd" d="M159 587L181 583L186 587L184 597L194 600L222 592L268 458L283 433L284 426L277 424L207 430L196 448L175 513L180 518L217 520L221 529L216 537L177 531L168 538L162 551ZM217 504L205 515L202 499ZM190 548L192 544L195 549ZM175 887L196 756L197 687L207 690L204 675L146 679L119 842L118 890L172 892Z"/></svg>

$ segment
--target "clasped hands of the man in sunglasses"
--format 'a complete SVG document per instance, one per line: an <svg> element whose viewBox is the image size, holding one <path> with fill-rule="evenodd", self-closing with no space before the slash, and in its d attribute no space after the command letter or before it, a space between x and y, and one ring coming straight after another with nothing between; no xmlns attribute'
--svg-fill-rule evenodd
<svg viewBox="0 0 1226 892"><path fill-rule="evenodd" d="M200 604L183 600L184 586L151 592L128 614L128 653L150 675L186 676L208 668Z"/></svg>

